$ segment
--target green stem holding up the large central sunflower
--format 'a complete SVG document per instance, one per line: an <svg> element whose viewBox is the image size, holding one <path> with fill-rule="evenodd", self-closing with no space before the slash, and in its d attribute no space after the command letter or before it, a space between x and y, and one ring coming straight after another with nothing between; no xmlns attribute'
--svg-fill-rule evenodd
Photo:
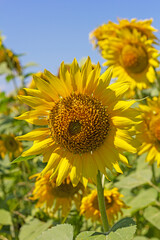
<svg viewBox="0 0 160 240"><path fill-rule="evenodd" d="M100 174L99 170L98 170L98 174L97 174L97 193L98 193L98 205L99 205L99 210L101 213L103 229L104 229L104 232L108 232L109 224L108 224L105 201L104 201L104 189L102 187L102 179L101 179L101 174Z"/></svg>

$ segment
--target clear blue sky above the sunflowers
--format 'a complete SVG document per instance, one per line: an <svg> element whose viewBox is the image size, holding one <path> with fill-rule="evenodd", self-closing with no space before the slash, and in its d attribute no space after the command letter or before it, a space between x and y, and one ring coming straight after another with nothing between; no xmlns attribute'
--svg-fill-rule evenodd
<svg viewBox="0 0 160 240"><path fill-rule="evenodd" d="M23 64L39 64L31 71L46 68L56 74L63 60L69 63L74 57L103 63L88 34L108 20L117 22L117 17L153 18L153 26L160 29L160 0L0 0L4 43L15 53L26 53ZM0 78L1 90L11 85Z"/></svg>

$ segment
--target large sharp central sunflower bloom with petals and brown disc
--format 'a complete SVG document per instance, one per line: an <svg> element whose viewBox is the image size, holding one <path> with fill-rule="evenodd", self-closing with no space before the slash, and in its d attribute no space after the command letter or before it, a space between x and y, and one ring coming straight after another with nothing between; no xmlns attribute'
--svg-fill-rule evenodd
<svg viewBox="0 0 160 240"><path fill-rule="evenodd" d="M74 186L96 182L98 170L106 175L105 168L122 173L119 161L128 163L123 151L136 152L129 131L138 122L130 108L135 101L121 100L128 85L109 86L111 72L100 76L100 70L99 63L92 69L90 58L80 70L74 59L70 72L61 64L60 78L47 70L42 78L34 75L39 90L26 89L31 96L19 96L33 110L17 119L45 125L18 137L34 141L22 156L43 154L42 174L53 169L57 185L68 175Z"/></svg>

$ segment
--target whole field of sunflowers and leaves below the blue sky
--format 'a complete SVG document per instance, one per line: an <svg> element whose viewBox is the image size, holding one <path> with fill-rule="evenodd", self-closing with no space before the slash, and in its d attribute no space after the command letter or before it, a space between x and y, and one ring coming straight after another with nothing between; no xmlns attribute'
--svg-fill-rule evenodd
<svg viewBox="0 0 160 240"><path fill-rule="evenodd" d="M0 90L0 240L160 239L156 32L108 21L89 34L103 67L74 58L56 73L33 73L0 35L14 85Z"/></svg>

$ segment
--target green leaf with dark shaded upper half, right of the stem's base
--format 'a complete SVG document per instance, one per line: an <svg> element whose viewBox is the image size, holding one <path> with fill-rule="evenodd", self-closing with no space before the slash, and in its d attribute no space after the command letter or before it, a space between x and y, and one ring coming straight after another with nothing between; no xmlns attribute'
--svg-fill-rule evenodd
<svg viewBox="0 0 160 240"><path fill-rule="evenodd" d="M136 231L136 223L132 218L118 221L109 231L106 240L132 240Z"/></svg>

